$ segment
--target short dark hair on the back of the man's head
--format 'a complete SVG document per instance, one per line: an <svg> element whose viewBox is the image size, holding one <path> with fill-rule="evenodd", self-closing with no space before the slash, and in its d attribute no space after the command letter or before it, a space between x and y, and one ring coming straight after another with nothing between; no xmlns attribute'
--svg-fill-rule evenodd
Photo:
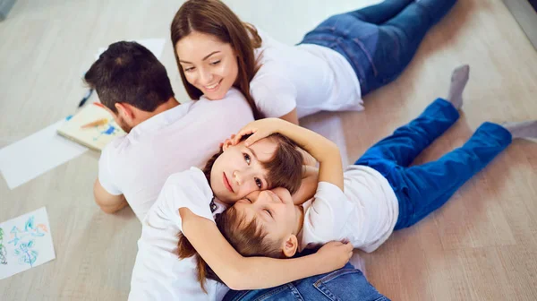
<svg viewBox="0 0 537 301"><path fill-rule="evenodd" d="M84 80L97 91L103 105L115 113L116 103L153 112L174 97L164 65L136 42L111 44L91 65Z"/></svg>

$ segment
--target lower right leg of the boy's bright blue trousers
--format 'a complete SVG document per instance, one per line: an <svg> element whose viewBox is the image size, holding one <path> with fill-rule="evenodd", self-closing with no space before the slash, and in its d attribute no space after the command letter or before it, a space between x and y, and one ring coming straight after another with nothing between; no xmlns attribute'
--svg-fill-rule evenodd
<svg viewBox="0 0 537 301"><path fill-rule="evenodd" d="M439 209L472 176L485 168L511 143L511 133L500 125L485 123L461 148L440 159L404 171L407 188L396 193L407 216L399 215L395 229L407 228Z"/></svg>

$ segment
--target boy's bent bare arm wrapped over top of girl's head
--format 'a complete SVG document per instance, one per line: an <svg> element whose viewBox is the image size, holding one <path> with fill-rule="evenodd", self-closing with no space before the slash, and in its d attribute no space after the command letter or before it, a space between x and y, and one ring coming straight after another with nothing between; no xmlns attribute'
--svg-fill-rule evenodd
<svg viewBox="0 0 537 301"><path fill-rule="evenodd" d="M271 133L281 133L296 142L313 158L319 161L319 182L328 182L337 185L343 191L343 166L341 154L334 142L299 125L293 125L278 118L265 118L251 122L243 127L234 137L234 144L240 142L241 137L250 134L245 141L249 146Z"/></svg>

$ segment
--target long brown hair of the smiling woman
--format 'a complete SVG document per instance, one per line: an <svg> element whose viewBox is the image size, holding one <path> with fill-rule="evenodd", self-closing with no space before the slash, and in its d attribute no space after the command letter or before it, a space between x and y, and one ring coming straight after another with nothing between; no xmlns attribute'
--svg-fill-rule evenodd
<svg viewBox="0 0 537 301"><path fill-rule="evenodd" d="M175 47L179 40L191 34L192 31L197 31L214 36L234 48L239 66L239 74L234 86L241 90L248 100L254 118L263 117L250 94L251 79L260 68L253 49L261 46L260 35L253 26L241 22L239 17L219 0L188 0L175 13L170 30L177 68L181 73L184 88L191 99L200 99L203 93L186 80Z"/></svg>

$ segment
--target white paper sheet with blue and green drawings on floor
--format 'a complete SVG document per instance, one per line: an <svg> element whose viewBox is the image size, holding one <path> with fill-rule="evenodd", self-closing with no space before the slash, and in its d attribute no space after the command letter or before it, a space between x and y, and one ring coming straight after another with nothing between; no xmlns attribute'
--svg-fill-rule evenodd
<svg viewBox="0 0 537 301"><path fill-rule="evenodd" d="M0 280L53 259L45 207L0 224Z"/></svg>

